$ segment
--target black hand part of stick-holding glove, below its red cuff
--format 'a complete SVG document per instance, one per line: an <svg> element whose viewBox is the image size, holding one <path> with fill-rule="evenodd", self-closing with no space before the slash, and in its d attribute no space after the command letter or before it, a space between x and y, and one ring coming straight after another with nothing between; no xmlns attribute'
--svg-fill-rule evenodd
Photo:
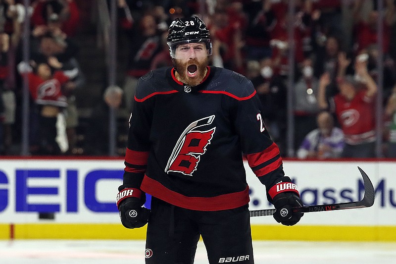
<svg viewBox="0 0 396 264"><path fill-rule="evenodd" d="M302 207L301 199L297 194L284 192L276 195L273 199L275 220L283 225L295 225L300 220L303 212L294 212L293 207Z"/></svg>

